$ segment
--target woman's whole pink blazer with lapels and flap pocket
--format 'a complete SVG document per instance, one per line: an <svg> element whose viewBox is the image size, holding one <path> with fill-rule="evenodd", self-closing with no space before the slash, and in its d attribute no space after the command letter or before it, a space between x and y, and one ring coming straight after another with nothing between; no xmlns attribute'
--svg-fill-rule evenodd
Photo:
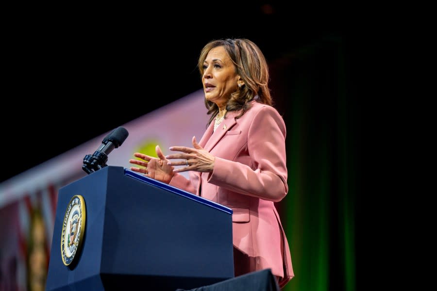
<svg viewBox="0 0 437 291"><path fill-rule="evenodd" d="M271 268L284 286L293 276L290 250L273 202L288 192L286 126L271 106L252 101L235 119L229 112L214 132L211 122L199 144L216 157L212 173L176 173L170 185L231 208L233 243L255 260L258 271Z"/></svg>

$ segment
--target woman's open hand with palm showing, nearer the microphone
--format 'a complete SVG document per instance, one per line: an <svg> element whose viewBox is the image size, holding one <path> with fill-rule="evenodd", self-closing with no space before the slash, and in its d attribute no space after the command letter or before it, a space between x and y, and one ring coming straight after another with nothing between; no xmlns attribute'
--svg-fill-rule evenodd
<svg viewBox="0 0 437 291"><path fill-rule="evenodd" d="M173 178L174 172L173 166L168 165L168 160L164 156L159 146L155 147L157 158L142 154L134 153L134 156L140 158L144 161L131 159L129 162L131 164L143 166L141 168L131 167L131 170L137 173L144 174L145 176L161 181L163 183L170 183L171 178Z"/></svg>

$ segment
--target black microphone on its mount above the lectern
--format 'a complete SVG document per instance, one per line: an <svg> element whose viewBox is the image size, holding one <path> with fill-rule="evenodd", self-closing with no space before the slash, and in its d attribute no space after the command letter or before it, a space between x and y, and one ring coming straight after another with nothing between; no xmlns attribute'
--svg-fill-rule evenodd
<svg viewBox="0 0 437 291"><path fill-rule="evenodd" d="M129 132L123 127L118 127L117 129L112 130L108 135L103 138L101 146L99 146L94 154L86 155L84 157L84 164L82 165L82 169L87 174L91 174L95 171L100 170L103 167L106 167L109 153L112 152L114 148L121 146L121 144L123 144L128 135Z"/></svg>

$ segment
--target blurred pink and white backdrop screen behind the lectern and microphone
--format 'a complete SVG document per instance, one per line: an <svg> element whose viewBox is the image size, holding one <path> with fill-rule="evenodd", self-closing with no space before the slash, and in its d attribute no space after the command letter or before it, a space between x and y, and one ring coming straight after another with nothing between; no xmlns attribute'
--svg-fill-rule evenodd
<svg viewBox="0 0 437 291"><path fill-rule="evenodd" d="M186 118L186 112L197 114ZM108 155L107 164L129 168L134 152L156 156L156 145L164 154L170 146L192 146L191 138L201 139L208 117L200 90L120 124L129 136ZM87 175L84 156L93 154L108 133L1 183L0 291L45 289L58 189Z"/></svg>

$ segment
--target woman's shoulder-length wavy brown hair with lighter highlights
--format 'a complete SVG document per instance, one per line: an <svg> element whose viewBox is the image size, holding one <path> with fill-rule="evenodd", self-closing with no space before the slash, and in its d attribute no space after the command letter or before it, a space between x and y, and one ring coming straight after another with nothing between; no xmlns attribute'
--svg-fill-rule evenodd
<svg viewBox="0 0 437 291"><path fill-rule="evenodd" d="M209 51L216 47L223 47L235 65L236 72L244 81L244 85L238 88L226 104L226 111L241 112L235 117L241 117L249 108L251 101L272 105L269 89L269 66L261 49L249 39L218 39L207 43L199 56L198 67L203 76L203 62ZM212 101L205 99L205 106L211 117L208 125L218 114L218 106Z"/></svg>

